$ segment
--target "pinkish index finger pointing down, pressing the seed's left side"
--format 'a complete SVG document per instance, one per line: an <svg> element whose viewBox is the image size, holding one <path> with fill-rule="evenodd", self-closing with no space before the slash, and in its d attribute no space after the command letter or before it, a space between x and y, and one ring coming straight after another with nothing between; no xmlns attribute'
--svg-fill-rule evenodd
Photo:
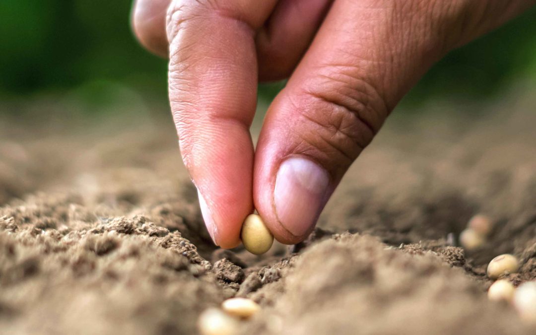
<svg viewBox="0 0 536 335"><path fill-rule="evenodd" d="M253 211L255 31L276 0L175 0L166 20L169 99L203 218L222 248L240 243Z"/></svg>

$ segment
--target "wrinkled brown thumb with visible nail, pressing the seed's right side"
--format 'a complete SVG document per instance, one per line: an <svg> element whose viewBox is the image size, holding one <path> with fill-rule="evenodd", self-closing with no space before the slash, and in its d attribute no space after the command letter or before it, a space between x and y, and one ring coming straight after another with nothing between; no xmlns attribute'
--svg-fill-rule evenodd
<svg viewBox="0 0 536 335"><path fill-rule="evenodd" d="M267 111L257 144L254 203L277 240L307 237L401 97L446 51L487 29L465 16L486 10L489 22L475 20L490 27L515 12L471 3L334 2Z"/></svg>

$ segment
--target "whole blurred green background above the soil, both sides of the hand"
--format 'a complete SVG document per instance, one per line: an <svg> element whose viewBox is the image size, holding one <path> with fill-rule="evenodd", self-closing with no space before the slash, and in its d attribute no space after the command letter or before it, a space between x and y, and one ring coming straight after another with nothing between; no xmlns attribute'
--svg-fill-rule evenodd
<svg viewBox="0 0 536 335"><path fill-rule="evenodd" d="M167 103L166 61L138 46L130 6L126 0L0 1L0 99L76 92L107 103L126 90ZM536 79L536 8L453 51L404 103L486 99L526 79ZM270 100L281 87L262 85L260 99Z"/></svg>

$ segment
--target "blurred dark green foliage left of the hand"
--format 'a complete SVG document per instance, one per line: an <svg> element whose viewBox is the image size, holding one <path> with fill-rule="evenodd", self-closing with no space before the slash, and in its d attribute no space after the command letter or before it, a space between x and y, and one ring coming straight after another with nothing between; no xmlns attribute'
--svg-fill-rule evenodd
<svg viewBox="0 0 536 335"><path fill-rule="evenodd" d="M133 38L128 1L2 0L0 12L0 91L110 80L166 94L166 61Z"/></svg>

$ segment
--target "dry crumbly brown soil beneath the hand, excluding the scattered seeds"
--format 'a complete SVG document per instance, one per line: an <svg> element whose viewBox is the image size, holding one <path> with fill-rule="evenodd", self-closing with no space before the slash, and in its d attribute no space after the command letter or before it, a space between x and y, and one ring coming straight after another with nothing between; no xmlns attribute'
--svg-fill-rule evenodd
<svg viewBox="0 0 536 335"><path fill-rule="evenodd" d="M487 300L485 276L509 252L522 267L508 278L536 279L532 106L397 111L309 239L263 256L212 245L168 118L5 118L0 332L195 333L203 310L245 296L262 312L244 334L536 333ZM495 225L467 252L477 213Z"/></svg>

